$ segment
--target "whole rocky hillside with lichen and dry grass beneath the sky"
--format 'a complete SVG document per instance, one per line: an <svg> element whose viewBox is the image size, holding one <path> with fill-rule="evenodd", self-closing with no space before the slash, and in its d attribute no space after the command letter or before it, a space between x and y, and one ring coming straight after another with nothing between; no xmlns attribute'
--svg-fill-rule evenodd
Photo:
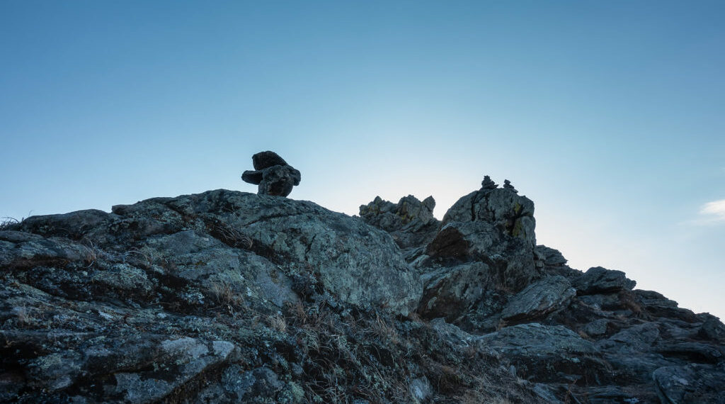
<svg viewBox="0 0 725 404"><path fill-rule="evenodd" d="M508 181L434 205L216 190L6 223L0 401L725 403L718 318L569 268Z"/></svg>

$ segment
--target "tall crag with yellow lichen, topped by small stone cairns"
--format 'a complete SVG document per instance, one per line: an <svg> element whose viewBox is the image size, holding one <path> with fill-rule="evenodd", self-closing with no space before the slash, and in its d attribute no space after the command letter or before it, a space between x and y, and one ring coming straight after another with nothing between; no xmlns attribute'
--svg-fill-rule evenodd
<svg viewBox="0 0 725 404"><path fill-rule="evenodd" d="M469 331L490 331L512 294L542 273L534 264L534 203L486 177L459 199L413 260L423 272L419 312L444 316Z"/></svg>

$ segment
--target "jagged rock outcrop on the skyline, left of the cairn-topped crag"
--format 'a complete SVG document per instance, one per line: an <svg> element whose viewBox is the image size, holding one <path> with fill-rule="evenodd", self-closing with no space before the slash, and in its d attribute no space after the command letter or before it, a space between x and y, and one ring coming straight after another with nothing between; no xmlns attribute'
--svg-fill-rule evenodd
<svg viewBox="0 0 725 404"><path fill-rule="evenodd" d="M440 226L433 216L433 197L419 201L413 195L400 198L397 204L376 197L360 205L360 218L370 226L387 231L401 248L414 248L431 242Z"/></svg>

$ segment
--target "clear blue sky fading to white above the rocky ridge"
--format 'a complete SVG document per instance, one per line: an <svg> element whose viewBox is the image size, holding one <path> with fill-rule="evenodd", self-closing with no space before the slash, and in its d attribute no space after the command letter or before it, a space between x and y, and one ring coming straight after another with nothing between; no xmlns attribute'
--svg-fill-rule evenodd
<svg viewBox="0 0 725 404"><path fill-rule="evenodd" d="M0 217L241 181L355 215L484 175L573 268L725 318L723 1L0 1Z"/></svg>

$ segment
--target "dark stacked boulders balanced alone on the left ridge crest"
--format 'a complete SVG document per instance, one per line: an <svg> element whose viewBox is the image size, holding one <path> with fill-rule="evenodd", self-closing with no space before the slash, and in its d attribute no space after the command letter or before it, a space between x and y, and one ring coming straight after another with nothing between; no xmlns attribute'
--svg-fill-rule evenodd
<svg viewBox="0 0 725 404"><path fill-rule="evenodd" d="M249 184L259 185L260 195L286 197L293 186L299 185L302 176L299 170L287 164L275 152L259 152L252 156L254 171L247 170L241 179Z"/></svg>

